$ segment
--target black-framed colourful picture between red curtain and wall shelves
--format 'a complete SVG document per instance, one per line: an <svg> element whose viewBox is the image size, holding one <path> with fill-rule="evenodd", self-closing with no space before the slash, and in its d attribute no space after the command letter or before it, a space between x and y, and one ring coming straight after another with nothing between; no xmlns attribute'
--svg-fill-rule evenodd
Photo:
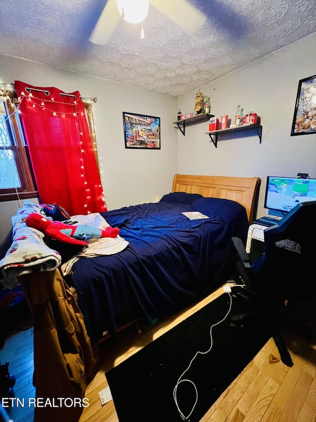
<svg viewBox="0 0 316 422"><path fill-rule="evenodd" d="M160 149L160 118L123 111L124 142L128 149Z"/></svg>

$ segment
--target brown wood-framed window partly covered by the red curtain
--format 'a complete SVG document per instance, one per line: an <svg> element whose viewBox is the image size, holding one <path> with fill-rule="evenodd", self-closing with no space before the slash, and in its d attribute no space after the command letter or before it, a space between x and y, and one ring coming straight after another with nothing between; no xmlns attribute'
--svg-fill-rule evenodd
<svg viewBox="0 0 316 422"><path fill-rule="evenodd" d="M98 164L91 103L84 102L84 107ZM28 146L13 94L9 93L0 96L0 201L37 196Z"/></svg>

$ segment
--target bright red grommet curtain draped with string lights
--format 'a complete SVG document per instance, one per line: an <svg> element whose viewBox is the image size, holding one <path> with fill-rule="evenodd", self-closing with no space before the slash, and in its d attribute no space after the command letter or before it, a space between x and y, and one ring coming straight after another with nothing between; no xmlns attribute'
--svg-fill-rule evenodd
<svg viewBox="0 0 316 422"><path fill-rule="evenodd" d="M16 86L18 86L18 89L16 89ZM12 99L12 93L16 93L17 98ZM67 175L66 181L65 179L60 179L60 184L63 185L63 188L65 189L65 191L68 191L68 194L67 192L61 193L58 190L58 188L55 188L56 196L59 195L62 198L63 203L61 203L61 205L66 209L68 208L68 212L72 215L89 214L91 212L106 211L107 210L106 203L105 203L105 198L104 198L104 193L103 193L103 188L102 188L103 174L102 174L102 163L100 162L101 157L98 157L99 163L95 163L96 169L94 169L94 163L91 162L90 158L87 158L87 157L90 157L89 154L91 151L90 151L89 143L86 142L86 137L89 136L89 140L91 140L90 143L91 143L91 148L93 148L93 153L94 151L97 151L97 145L94 138L94 134L92 134L93 137L90 137L88 133L88 129L87 129L88 126L87 126L86 118L84 116L85 111L84 111L83 102L82 102L83 100L96 102L97 100L96 97L94 98L81 97L79 96L79 92L67 94L67 93L61 92L60 90L57 90L56 88L40 89L40 88L28 86L24 83L21 83L20 81L15 81L15 84L0 84L0 96L2 98L7 99L8 101L11 101L11 104L13 100L15 103L14 112L19 113L22 121L25 118L25 120L23 121L23 127L25 129L26 137L29 138L27 142L28 142L28 146L30 150L32 164L35 170L35 176L36 176L36 180L37 180L37 184L39 188L41 202L48 202L48 203L51 202L51 201L48 201L47 199L51 197L52 194L47 193L47 192L49 190L54 191L54 189L49 189L47 184L45 185L43 181L43 177L44 177L43 174L39 175L39 171L41 173L43 172L43 165L42 167L40 167L40 161L43 158L43 154L40 154L39 152L39 144L35 147L35 146L32 146L31 143L35 142L34 138L36 138L37 136L40 136L38 134L38 132L40 132L40 129L36 131L33 127L34 127L35 122L39 123L39 119L40 120L43 119L43 121L49 123L50 120L47 120L48 117L50 116L50 118L52 118L56 116L57 119L63 120L65 118L67 122L65 121L65 124L63 124L62 122L58 123L58 121L56 121L56 124L49 123L47 124L47 131L49 131L48 127L50 127L51 130L53 130L54 126L56 126L56 130L58 131L58 134L57 134L57 138L58 138L58 135L61 136L59 132L62 130L65 130L65 135L69 137L68 143L71 143L71 147L68 147L69 151L71 152L69 152L68 155L74 155L74 156L77 156L77 158L79 158L80 172L81 172L80 177L81 177L81 181L83 181L84 192L85 192L84 195L79 194L79 190L80 190L79 185L82 185L82 183L80 183L78 179L76 181L76 178L74 176L74 171L78 167L79 164L72 162L71 156L69 157L67 156L67 165L72 167L72 169L68 169L68 168L66 169L65 168L66 164L65 164L63 170L66 171L67 173L70 172L71 174ZM30 110L34 110L34 112L33 113L30 112ZM39 114L37 115L37 117L35 117L37 112L39 112ZM41 112L43 113L41 114ZM26 119L26 116L24 116L24 113L28 115L27 119ZM74 132L74 128L70 129L71 125L73 124L71 123L72 120L69 120L69 119L74 119L74 118L76 121L77 136L79 139L79 143L78 143L79 151L76 151L76 149L74 149L76 147L75 141L77 138ZM30 123L31 121L33 122L32 124ZM65 127L66 129L61 129L61 126ZM49 146L46 147L46 150L47 148L50 147L52 157L54 157L51 161L50 171L53 171L54 167L60 168L62 166L62 164L59 162L62 160L58 160L58 156L56 156L56 150L58 153L58 147L51 143L51 138L53 136L54 134L49 134L47 132L47 145ZM46 137L45 136L43 137L43 134L42 134L42 140L43 140L42 143L46 142ZM62 146L64 146L64 144ZM42 152L45 153L45 146L42 147L42 145L40 144L40 147L42 148ZM65 158L65 156L63 158ZM97 169L97 164L99 167L98 169ZM38 171L36 171L36 168L38 169ZM97 170L99 179L96 179L95 170ZM51 180L52 183L54 183L52 181L52 177L49 176L49 174L47 177L48 179ZM56 174L55 179L58 180L59 177L61 176L59 174ZM72 181L68 182L68 180L70 180L71 177L73 177L73 180L76 182L72 182ZM99 180L99 181L95 182L95 180ZM74 186L65 186L67 185L67 182L69 183L69 185L74 183ZM76 192L76 190L78 190L78 192ZM83 208L79 204L79 202L82 202L82 201L84 201ZM54 202L58 202L58 200L56 199ZM68 205L66 205L65 202L68 202Z"/></svg>

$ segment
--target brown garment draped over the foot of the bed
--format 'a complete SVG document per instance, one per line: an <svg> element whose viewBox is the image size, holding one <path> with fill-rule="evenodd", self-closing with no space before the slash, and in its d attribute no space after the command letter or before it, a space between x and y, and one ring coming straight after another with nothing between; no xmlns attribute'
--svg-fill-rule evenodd
<svg viewBox="0 0 316 422"><path fill-rule="evenodd" d="M34 319L33 383L41 406L34 421L77 422L97 362L77 301L57 269L19 281Z"/></svg>

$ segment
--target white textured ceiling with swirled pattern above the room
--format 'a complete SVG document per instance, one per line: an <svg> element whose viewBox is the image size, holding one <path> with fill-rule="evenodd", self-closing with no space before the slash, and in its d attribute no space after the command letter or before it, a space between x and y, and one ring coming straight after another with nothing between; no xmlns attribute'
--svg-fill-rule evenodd
<svg viewBox="0 0 316 422"><path fill-rule="evenodd" d="M188 1L207 17L195 34L150 4L144 40L120 19L98 46L106 0L1 0L0 52L179 96L316 31L315 0Z"/></svg>

